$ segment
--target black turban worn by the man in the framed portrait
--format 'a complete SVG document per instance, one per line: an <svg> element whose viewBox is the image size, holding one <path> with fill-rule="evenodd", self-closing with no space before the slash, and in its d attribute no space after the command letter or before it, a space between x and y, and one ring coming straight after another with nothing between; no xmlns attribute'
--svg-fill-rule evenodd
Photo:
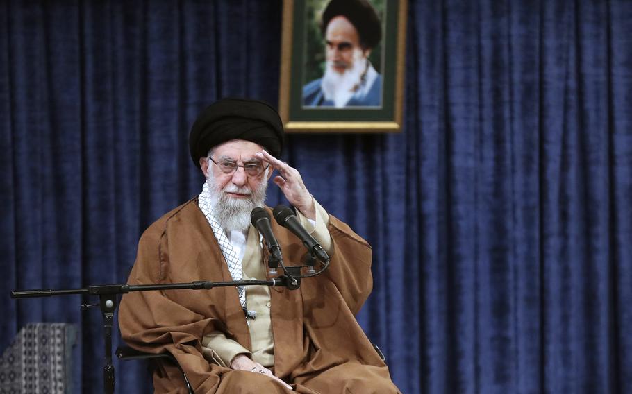
<svg viewBox="0 0 632 394"><path fill-rule="evenodd" d="M367 0L331 0L322 14L320 28L323 37L331 19L338 15L349 19L354 25L360 36L360 45L364 49L375 48L382 39L380 18Z"/></svg>

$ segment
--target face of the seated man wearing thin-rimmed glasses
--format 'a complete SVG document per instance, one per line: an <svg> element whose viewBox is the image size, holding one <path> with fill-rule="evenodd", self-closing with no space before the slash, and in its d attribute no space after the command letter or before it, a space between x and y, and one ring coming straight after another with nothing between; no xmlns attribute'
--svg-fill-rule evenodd
<svg viewBox="0 0 632 394"><path fill-rule="evenodd" d="M233 139L224 142L224 144L215 146L213 149L212 159L215 162L233 162L240 166L260 162L255 156L256 152L263 150L263 146L254 142L244 141L243 139ZM265 163L264 163L265 164ZM225 198L235 200L247 200L251 198L253 191L259 189L263 182L267 182L272 171L263 172L256 177L249 176L242 167L238 167L233 173L224 173L219 167L206 160L206 157L200 159L200 166L204 176L214 178L217 189L222 190ZM267 177L266 177L267 173Z"/></svg>

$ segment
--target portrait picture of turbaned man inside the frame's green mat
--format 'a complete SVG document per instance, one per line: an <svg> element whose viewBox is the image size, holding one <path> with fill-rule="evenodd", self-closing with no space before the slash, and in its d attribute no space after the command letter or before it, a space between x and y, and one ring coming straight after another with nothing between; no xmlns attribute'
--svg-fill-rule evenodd
<svg viewBox="0 0 632 394"><path fill-rule="evenodd" d="M308 13L317 28L310 31L308 25L303 108L381 107L382 1L313 0L311 5Z"/></svg>

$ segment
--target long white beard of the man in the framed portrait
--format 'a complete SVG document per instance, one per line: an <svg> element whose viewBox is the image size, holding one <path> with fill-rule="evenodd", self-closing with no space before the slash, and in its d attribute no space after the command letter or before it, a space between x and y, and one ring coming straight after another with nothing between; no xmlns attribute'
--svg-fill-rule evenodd
<svg viewBox="0 0 632 394"><path fill-rule="evenodd" d="M333 60L328 60L325 75L320 84L325 99L333 101L335 108L347 105L360 85L360 77L366 69L367 59L359 48L354 50L354 62L351 68L346 69L342 74L334 71Z"/></svg>

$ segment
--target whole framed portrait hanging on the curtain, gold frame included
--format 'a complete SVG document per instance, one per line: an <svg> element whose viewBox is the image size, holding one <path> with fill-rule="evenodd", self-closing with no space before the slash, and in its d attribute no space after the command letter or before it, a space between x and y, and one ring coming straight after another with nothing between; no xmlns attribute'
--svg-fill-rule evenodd
<svg viewBox="0 0 632 394"><path fill-rule="evenodd" d="M406 0L284 0L286 132L399 132Z"/></svg>

